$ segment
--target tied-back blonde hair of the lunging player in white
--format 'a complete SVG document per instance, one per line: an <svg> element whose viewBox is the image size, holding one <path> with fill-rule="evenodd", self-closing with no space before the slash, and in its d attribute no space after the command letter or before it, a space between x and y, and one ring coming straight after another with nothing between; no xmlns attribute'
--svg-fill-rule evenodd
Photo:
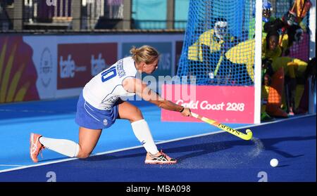
<svg viewBox="0 0 317 196"><path fill-rule="evenodd" d="M159 59L159 52L152 46L144 45L139 48L132 46L130 53L132 54L132 58L136 63L144 62L150 64L156 59Z"/></svg>

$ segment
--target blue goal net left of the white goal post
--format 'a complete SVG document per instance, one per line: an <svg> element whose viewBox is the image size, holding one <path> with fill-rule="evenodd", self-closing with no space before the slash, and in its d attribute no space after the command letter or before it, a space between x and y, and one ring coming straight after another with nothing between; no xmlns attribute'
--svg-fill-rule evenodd
<svg viewBox="0 0 317 196"><path fill-rule="evenodd" d="M254 85L254 5L255 0L190 1L178 76L194 76L199 85Z"/></svg>

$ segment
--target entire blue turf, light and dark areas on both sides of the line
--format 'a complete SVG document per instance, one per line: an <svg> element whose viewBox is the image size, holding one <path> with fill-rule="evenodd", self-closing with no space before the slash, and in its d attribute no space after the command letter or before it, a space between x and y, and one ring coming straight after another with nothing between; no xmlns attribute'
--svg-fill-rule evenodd
<svg viewBox="0 0 317 196"><path fill-rule="evenodd" d="M155 106L142 106L141 110L156 141L216 131L204 123L161 122L160 112ZM57 112L0 120L0 142L7 147L1 150L0 164L32 164L28 157L30 130L37 130L48 137L77 141L77 125L73 117L74 112ZM0 181L46 181L49 171L56 173L57 181L256 182L261 171L268 174L268 181L316 181L316 116L256 126L251 130L263 143L263 149L257 148L259 145L252 141L242 141L229 133L218 133L159 144L159 148L168 155L178 158L179 163L175 165L143 164L144 149L137 148L4 172L0 173ZM139 143L130 124L120 120L103 132L94 152L136 145ZM42 163L63 158L49 150L43 155L44 159L40 158ZM278 167L269 165L272 158L280 161ZM12 166L0 167L8 168Z"/></svg>

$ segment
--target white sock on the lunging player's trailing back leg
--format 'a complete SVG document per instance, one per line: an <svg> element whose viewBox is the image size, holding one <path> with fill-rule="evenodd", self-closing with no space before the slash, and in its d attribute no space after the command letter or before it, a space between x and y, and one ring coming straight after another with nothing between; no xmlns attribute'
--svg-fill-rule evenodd
<svg viewBox="0 0 317 196"><path fill-rule="evenodd" d="M62 155L66 155L68 157L77 157L79 152L79 145L73 141L44 138L42 136L39 138L39 142L42 143L45 148L54 150L55 152L61 153Z"/></svg>

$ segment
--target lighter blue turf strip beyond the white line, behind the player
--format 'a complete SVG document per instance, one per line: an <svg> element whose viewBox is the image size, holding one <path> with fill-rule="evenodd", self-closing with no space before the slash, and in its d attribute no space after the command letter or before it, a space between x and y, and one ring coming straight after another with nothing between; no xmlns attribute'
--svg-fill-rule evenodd
<svg viewBox="0 0 317 196"><path fill-rule="evenodd" d="M31 132L77 142L76 103L77 98L68 98L0 105L0 143L9 147L1 150L0 170L34 164L29 157ZM156 142L218 131L216 127L205 123L161 122L158 107L144 101L132 103L142 110ZM246 124L230 124L232 127L243 125ZM140 143L135 138L130 123L117 120L110 129L104 129L93 153L138 145ZM44 159L39 157L39 163L65 158L50 150L44 150L43 156Z"/></svg>

